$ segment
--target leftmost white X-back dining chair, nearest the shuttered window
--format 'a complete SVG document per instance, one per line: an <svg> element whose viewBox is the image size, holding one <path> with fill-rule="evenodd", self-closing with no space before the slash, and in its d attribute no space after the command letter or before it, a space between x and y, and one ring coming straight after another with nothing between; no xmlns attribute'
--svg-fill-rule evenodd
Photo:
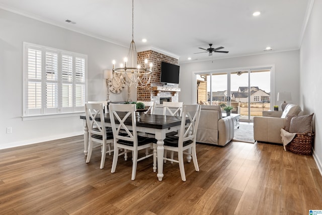
<svg viewBox="0 0 322 215"><path fill-rule="evenodd" d="M106 153L111 153L111 144L113 143L112 130L106 130L104 126L104 113L102 103L86 103L86 123L89 129L89 151L87 154L86 163L89 163L92 156L94 142L97 142L102 147L101 149L101 165L100 169L104 168ZM98 120L98 118L100 120ZM107 150L107 145L108 149Z"/></svg>

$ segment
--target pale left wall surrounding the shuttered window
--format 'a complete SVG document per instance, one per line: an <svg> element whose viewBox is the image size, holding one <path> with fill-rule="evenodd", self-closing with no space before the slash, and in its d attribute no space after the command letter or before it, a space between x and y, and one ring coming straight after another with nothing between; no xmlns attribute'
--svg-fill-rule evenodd
<svg viewBox="0 0 322 215"><path fill-rule="evenodd" d="M106 100L103 70L112 60L127 55L128 48L105 42L0 9L0 149L82 134L79 114L71 117L23 121L23 42L88 55L88 100ZM136 91L132 90L135 94ZM111 95L112 101L126 101L127 89ZM12 127L12 133L6 133Z"/></svg>

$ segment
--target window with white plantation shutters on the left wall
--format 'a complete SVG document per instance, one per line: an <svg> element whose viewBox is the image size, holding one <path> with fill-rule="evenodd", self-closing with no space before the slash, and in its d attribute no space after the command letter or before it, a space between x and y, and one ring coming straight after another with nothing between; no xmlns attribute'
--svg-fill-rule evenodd
<svg viewBox="0 0 322 215"><path fill-rule="evenodd" d="M24 43L24 116L84 111L87 56Z"/></svg>

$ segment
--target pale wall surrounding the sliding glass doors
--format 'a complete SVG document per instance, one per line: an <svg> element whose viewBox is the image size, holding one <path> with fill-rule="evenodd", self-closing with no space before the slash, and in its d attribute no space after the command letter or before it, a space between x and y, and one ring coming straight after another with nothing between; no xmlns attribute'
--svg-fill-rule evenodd
<svg viewBox="0 0 322 215"><path fill-rule="evenodd" d="M275 92L275 101L271 96L274 105L281 104L277 101L277 93L284 91L291 92L292 102L299 104L299 50L180 64L179 101L187 104L196 102L191 96L194 94L192 87L194 73L264 65L275 65L275 89L271 89L271 92Z"/></svg>

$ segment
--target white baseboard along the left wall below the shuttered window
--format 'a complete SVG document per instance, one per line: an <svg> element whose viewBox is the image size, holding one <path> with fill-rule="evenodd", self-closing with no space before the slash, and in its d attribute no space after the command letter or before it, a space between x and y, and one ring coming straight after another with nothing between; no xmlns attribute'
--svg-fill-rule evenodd
<svg viewBox="0 0 322 215"><path fill-rule="evenodd" d="M84 134L84 131L83 132L77 131L77 132L73 132L73 133L64 133L64 134L59 134L59 135L54 135L54 136L46 136L46 137L37 138L37 139L28 139L25 141L10 142L8 144L0 145L0 150L14 148L14 147L21 147L21 146L26 146L26 145L31 145L31 144L38 144L39 142L45 142L45 141L61 139L61 138L66 138L66 137L71 137L71 136L77 136L77 135L82 135L82 134Z"/></svg>

